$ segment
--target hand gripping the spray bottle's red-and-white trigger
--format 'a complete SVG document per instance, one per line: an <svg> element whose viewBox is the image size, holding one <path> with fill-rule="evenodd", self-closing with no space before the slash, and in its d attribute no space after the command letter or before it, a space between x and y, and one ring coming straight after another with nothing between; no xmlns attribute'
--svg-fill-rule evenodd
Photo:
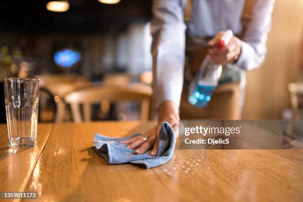
<svg viewBox="0 0 303 202"><path fill-rule="evenodd" d="M215 46L221 39L224 32L220 31L209 42L209 46ZM237 60L241 54L241 40L233 36L225 48L212 48L208 50L206 57L213 64L226 64Z"/></svg>

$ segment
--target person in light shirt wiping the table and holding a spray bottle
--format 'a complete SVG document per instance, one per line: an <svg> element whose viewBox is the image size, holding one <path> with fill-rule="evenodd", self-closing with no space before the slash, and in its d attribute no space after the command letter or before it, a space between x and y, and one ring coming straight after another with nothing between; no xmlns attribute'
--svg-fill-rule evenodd
<svg viewBox="0 0 303 202"><path fill-rule="evenodd" d="M186 50L199 40L214 47L223 34L221 30L231 29L235 36L221 50L208 49L206 57L213 64L225 65L219 83L240 83L241 107L244 70L253 70L264 60L273 5L274 0L153 0L152 88L158 109L158 125L141 137L121 143L129 144L128 148L135 150L135 154L151 150L150 155L155 156L163 122L168 121L178 136L182 81L184 78L185 87L193 79L193 71L187 68ZM207 41L209 36L210 41ZM195 113L195 108L192 113Z"/></svg>

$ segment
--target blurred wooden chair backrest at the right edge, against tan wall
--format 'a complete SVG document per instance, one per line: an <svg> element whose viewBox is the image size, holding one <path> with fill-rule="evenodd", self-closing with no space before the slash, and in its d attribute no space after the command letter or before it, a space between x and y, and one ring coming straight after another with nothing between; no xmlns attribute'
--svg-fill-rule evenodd
<svg viewBox="0 0 303 202"><path fill-rule="evenodd" d="M288 90L291 96L293 118L303 119L303 82L290 83Z"/></svg>

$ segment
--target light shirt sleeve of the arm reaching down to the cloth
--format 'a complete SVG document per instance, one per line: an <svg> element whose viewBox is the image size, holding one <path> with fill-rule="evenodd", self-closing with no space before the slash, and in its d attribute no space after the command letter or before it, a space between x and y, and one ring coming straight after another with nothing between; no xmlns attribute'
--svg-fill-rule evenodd
<svg viewBox="0 0 303 202"><path fill-rule="evenodd" d="M180 105L185 58L185 23L181 0L153 0L152 70L153 98Z"/></svg>

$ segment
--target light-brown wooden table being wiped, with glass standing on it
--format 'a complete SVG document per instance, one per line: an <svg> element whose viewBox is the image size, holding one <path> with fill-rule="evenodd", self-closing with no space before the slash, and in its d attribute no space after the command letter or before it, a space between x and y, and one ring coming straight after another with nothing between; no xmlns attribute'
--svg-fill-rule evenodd
<svg viewBox="0 0 303 202"><path fill-rule="evenodd" d="M46 202L303 201L303 150L176 150L146 170L108 165L92 149L95 132L125 136L154 124L39 124L37 147L15 153L0 125L0 191L36 191Z"/></svg>

